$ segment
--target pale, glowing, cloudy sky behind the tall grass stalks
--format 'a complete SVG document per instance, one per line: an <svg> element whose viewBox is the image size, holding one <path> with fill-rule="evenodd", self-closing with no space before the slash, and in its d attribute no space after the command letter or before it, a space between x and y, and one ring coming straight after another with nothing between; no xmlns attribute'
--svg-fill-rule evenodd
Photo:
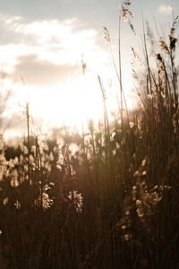
<svg viewBox="0 0 179 269"><path fill-rule="evenodd" d="M117 65L119 5L116 0L0 0L0 86L11 91L4 118L21 131L21 111L47 126L75 125L102 113L98 74L115 108L115 71L103 39L110 32ZM130 47L141 38L141 12L164 32L179 11L178 0L133 0L132 24L121 25L124 89L133 106ZM82 73L81 58L86 64ZM18 126L20 126L18 128ZM10 131L9 131L10 134Z"/></svg>

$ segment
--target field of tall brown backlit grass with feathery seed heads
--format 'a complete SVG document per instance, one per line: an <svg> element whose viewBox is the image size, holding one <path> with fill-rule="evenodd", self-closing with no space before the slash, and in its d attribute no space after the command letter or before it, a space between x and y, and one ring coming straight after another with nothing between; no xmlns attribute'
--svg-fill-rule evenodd
<svg viewBox="0 0 179 269"><path fill-rule="evenodd" d="M128 113L119 65L113 123L98 77L104 119L88 133L31 134L27 105L21 144L0 137L1 269L179 268L177 20L157 48L144 31L143 57L132 48L140 109Z"/></svg>

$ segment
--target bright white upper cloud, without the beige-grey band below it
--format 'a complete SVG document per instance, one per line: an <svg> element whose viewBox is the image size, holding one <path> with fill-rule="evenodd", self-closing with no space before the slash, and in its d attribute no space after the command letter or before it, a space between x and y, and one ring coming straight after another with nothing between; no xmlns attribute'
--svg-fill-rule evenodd
<svg viewBox="0 0 179 269"><path fill-rule="evenodd" d="M4 43L0 43L1 64L4 71L13 72L21 56L36 55L37 61L53 65L76 65L85 55L88 65L98 66L107 59L98 46L98 32L85 29L81 22L71 20L27 21L21 17L0 14L0 30Z"/></svg>

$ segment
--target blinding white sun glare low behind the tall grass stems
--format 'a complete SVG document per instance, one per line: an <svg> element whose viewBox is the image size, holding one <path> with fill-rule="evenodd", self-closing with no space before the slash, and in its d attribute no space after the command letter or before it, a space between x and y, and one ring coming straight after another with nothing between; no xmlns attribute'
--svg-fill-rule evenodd
<svg viewBox="0 0 179 269"><path fill-rule="evenodd" d="M114 112L119 112L120 108L119 82L114 75L114 70L109 67L101 69L100 74L102 74L100 78L110 120L114 117L112 116ZM131 92L132 81L126 72L124 74L125 100L127 108L132 109L134 106ZM46 129L65 125L81 130L81 126L88 127L90 119L94 123L98 123L104 118L103 94L96 71L85 74L81 72L63 82L51 82L43 86L14 84L9 113L16 113L16 115L19 113L20 115L27 102L30 106L30 117L33 118L33 124ZM25 121L24 118L23 120Z"/></svg>

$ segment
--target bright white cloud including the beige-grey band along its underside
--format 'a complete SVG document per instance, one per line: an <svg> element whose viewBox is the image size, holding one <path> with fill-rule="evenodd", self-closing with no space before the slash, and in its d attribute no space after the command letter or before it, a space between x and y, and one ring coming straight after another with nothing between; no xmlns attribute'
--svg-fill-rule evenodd
<svg viewBox="0 0 179 269"><path fill-rule="evenodd" d="M75 18L32 21L0 13L0 30L1 69L8 74L7 82L20 76L31 85L63 81L81 73L82 54L88 70L99 70L107 61L98 31Z"/></svg>

